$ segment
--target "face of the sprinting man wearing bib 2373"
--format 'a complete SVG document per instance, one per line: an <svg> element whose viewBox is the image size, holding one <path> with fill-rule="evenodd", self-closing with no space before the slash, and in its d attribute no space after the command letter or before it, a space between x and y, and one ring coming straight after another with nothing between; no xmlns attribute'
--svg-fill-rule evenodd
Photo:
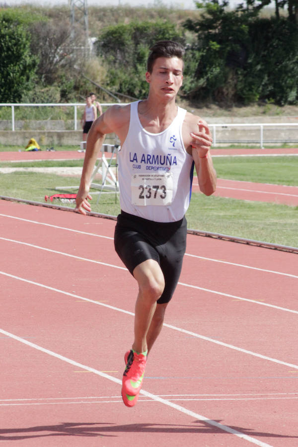
<svg viewBox="0 0 298 447"><path fill-rule="evenodd" d="M159 96L176 96L182 85L183 62L179 58L157 58L152 73L146 73L146 80Z"/></svg>

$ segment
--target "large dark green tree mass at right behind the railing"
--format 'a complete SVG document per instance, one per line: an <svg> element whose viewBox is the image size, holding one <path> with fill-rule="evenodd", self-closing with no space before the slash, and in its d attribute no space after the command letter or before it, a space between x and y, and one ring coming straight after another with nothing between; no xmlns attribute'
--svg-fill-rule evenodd
<svg viewBox="0 0 298 447"><path fill-rule="evenodd" d="M190 66L193 82L185 83L185 93L222 103L296 103L298 25L284 17L259 18L255 10L229 11L226 5L211 0L198 21L185 23L198 39L188 51L187 61L197 64Z"/></svg>

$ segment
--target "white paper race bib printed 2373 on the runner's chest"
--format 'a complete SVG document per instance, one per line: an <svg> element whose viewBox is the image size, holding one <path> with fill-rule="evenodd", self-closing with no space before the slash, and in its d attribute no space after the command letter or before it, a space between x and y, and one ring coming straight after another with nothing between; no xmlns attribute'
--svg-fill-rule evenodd
<svg viewBox="0 0 298 447"><path fill-rule="evenodd" d="M172 173L132 174L132 204L170 205L173 200Z"/></svg>

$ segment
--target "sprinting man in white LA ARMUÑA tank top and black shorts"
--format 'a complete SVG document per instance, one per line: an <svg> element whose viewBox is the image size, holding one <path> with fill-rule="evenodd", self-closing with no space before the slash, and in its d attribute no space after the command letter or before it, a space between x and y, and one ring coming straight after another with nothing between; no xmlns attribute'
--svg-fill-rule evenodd
<svg viewBox="0 0 298 447"><path fill-rule="evenodd" d="M134 342L125 354L122 379L122 399L128 407L138 400L147 355L179 280L194 165L200 190L209 196L216 189L208 126L175 103L183 79L182 58L178 43L157 42L148 59L148 98L112 106L95 121L76 197L75 211L91 210L90 177L105 135L114 132L121 141L115 249L139 286Z"/></svg>

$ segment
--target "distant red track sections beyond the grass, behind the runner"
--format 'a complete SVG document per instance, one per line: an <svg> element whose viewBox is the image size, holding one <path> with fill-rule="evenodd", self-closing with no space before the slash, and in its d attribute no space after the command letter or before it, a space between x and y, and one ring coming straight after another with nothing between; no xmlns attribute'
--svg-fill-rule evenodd
<svg viewBox="0 0 298 447"><path fill-rule="evenodd" d="M217 155L280 155L298 154L298 149L212 149ZM1 161L32 161L46 159L83 158L84 153L77 151L37 151L37 152L0 152ZM193 190L199 191L197 179L194 179ZM298 206L298 186L271 185L266 183L241 182L218 179L216 196L250 200L257 202L273 202L289 206Z"/></svg>

